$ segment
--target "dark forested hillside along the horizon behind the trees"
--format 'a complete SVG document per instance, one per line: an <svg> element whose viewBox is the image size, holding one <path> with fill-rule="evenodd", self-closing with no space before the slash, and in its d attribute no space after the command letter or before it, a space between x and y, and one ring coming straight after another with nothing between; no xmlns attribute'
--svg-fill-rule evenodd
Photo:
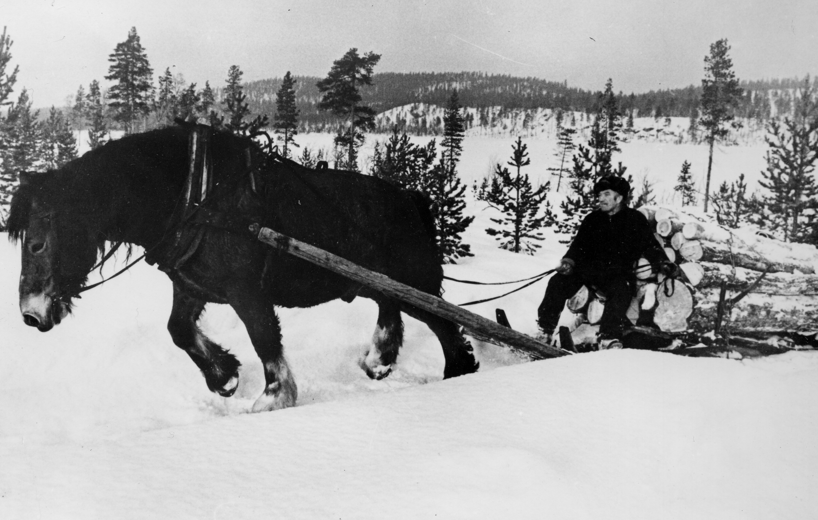
<svg viewBox="0 0 818 520"><path fill-rule="evenodd" d="M317 110L321 92L315 84L321 78L294 78L302 131L334 131L339 123L335 116ZM613 86L615 89L616 83ZM797 78L743 82L745 95L739 106L739 117L762 122L772 115L789 112L792 90L797 86ZM254 114L267 114L272 118L272 114L276 112L276 92L279 87L281 78L247 83L245 93L250 110ZM494 107L502 110L536 112L548 109L592 114L596 112L600 93L569 87L566 82L477 72L375 74L373 84L363 87L361 93L364 103L383 113L405 105L444 106L453 88L457 88L462 105L478 111L482 109L483 114ZM700 86L690 85L638 94L620 92L618 99L622 112L632 112L634 117L690 117L694 108L699 105L700 93ZM429 126L434 126L431 122L438 114L420 114L420 117L424 116L429 121ZM480 120L473 122L481 126L483 123ZM422 132L420 129L418 131ZM434 133L434 130L429 129L428 132Z"/></svg>

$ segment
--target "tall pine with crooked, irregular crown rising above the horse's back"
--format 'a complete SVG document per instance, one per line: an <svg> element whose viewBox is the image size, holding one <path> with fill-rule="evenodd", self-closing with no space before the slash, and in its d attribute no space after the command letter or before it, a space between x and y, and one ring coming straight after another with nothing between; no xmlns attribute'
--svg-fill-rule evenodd
<svg viewBox="0 0 818 520"><path fill-rule="evenodd" d="M358 128L375 127L375 110L361 105L358 87L372 84L372 71L380 61L380 54L367 52L358 56L357 48L349 49L343 57L332 64L330 73L316 86L323 93L319 110L329 110L339 117L348 118L345 132L335 137L335 144L348 150L346 167L357 171L357 149L363 144L363 134Z"/></svg>

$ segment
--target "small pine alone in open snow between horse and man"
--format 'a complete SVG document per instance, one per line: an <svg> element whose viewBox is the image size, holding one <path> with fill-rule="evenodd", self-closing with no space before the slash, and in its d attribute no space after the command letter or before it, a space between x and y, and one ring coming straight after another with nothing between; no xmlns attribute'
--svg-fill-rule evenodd
<svg viewBox="0 0 818 520"><path fill-rule="evenodd" d="M528 174L523 175L520 170L531 164L528 159L528 147L523 144L521 137L512 146L511 160L507 163L516 168L517 173L512 175L509 169L497 164L492 177L491 187L482 186L478 199L483 200L492 208L505 215L502 218L492 218L491 221L501 226L501 229L488 228L488 235L496 236L500 240L501 249L508 249L514 253L533 254L542 247L537 241L543 240L542 228L551 226L546 223L546 216L537 217L540 207L546 202L546 213L549 212L546 195L550 183L533 189Z"/></svg>

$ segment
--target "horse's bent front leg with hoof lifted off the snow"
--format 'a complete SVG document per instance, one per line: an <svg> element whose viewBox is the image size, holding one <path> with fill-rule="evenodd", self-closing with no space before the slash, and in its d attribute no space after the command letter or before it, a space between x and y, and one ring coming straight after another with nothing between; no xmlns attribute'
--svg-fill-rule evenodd
<svg viewBox="0 0 818 520"><path fill-rule="evenodd" d="M168 320L168 331L173 343L187 352L202 371L207 388L230 397L239 386L240 363L236 356L202 334L196 322L204 309L203 300L192 298L173 284L173 310Z"/></svg>

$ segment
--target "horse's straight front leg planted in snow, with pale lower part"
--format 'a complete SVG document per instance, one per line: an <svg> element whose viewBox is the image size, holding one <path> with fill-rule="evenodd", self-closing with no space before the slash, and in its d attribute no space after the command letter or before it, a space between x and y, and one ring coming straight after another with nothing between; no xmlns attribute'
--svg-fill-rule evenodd
<svg viewBox="0 0 818 520"><path fill-rule="evenodd" d="M295 406L298 389L281 346L281 325L275 307L258 285L232 285L227 299L244 322L256 354L264 368L264 392L253 411L278 410Z"/></svg>

